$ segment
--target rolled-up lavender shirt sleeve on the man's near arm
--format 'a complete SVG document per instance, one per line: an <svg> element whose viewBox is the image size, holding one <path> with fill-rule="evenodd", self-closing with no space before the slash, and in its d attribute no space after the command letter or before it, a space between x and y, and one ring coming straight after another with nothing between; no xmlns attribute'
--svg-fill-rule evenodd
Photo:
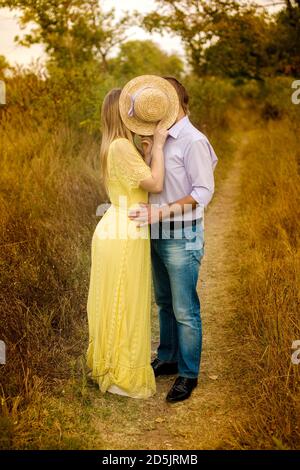
<svg viewBox="0 0 300 470"><path fill-rule="evenodd" d="M214 149L205 139L193 142L185 155L186 171L192 186L191 196L204 207L214 194L214 170L217 162Z"/></svg>

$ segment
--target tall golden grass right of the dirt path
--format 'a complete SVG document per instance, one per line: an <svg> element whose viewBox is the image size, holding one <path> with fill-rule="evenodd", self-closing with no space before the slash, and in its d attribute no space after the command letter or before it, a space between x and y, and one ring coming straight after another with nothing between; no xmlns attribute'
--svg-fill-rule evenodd
<svg viewBox="0 0 300 470"><path fill-rule="evenodd" d="M299 448L299 121L259 124L243 153L239 311L252 413L236 445Z"/></svg>

